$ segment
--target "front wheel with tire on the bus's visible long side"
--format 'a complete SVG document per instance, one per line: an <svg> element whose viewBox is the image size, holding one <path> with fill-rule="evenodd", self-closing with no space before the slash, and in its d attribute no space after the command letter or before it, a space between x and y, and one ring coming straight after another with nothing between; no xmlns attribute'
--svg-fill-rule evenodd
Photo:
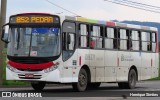
<svg viewBox="0 0 160 100"><path fill-rule="evenodd" d="M78 92L85 91L88 84L88 76L85 69L81 69L78 75L78 82L72 83L72 87L74 90Z"/></svg>

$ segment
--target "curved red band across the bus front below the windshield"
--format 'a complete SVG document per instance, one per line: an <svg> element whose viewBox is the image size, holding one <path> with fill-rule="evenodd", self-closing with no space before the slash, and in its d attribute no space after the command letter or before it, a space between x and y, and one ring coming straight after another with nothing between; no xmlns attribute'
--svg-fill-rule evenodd
<svg viewBox="0 0 160 100"><path fill-rule="evenodd" d="M49 68L54 65L53 62L48 63L42 63L42 64L23 64L23 63L16 63L13 61L9 61L8 64L14 68L17 69L23 69L23 70L43 70L46 68Z"/></svg>

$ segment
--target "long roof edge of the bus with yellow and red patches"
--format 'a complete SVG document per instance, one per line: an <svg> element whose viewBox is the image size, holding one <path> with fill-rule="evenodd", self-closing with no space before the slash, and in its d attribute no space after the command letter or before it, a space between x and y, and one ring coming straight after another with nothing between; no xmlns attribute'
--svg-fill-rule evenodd
<svg viewBox="0 0 160 100"><path fill-rule="evenodd" d="M103 25L107 25L107 26L119 26L119 27L123 27L123 28L142 29L142 30L146 30L146 31L158 31L158 29L156 27L126 24L126 23L104 21L104 20L94 20L94 19L88 19L88 18L84 18L84 17L65 16L65 19L80 21L80 22L95 23L95 24L103 24Z"/></svg>

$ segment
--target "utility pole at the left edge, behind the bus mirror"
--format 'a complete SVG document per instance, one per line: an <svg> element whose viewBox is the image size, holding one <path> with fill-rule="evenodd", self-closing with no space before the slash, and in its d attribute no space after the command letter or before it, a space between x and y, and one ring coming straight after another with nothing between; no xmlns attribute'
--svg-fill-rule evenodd
<svg viewBox="0 0 160 100"><path fill-rule="evenodd" d="M2 35L2 25L6 22L6 8L7 8L7 0L1 0L0 4L0 38ZM2 85L2 75L3 75L3 48L4 43L0 40L0 85Z"/></svg>

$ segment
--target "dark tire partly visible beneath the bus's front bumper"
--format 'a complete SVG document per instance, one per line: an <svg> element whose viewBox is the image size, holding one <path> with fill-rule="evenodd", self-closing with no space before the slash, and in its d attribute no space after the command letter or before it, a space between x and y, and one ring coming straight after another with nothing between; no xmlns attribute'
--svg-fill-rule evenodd
<svg viewBox="0 0 160 100"><path fill-rule="evenodd" d="M42 91L45 85L45 82L31 82L32 88L36 91Z"/></svg>

